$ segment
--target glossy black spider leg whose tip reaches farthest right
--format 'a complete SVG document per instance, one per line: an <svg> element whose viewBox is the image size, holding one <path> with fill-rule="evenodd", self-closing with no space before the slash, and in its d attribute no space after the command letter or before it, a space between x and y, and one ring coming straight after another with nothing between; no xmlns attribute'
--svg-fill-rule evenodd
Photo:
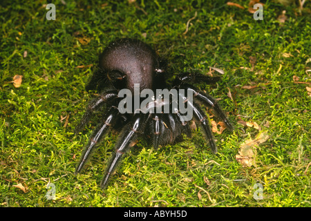
<svg viewBox="0 0 311 221"><path fill-rule="evenodd" d="M194 86L189 86L186 85L185 89L191 90L192 93L194 94L195 99L198 99L199 102L202 102L202 104L207 105L209 108L212 108L216 115L221 119L221 121L225 122L226 127L230 130L233 131L234 127L232 124L229 122L229 119L223 112L223 110L220 108L218 105L216 99L211 97L210 95L207 95L205 93L200 92L198 89L196 89Z"/></svg>

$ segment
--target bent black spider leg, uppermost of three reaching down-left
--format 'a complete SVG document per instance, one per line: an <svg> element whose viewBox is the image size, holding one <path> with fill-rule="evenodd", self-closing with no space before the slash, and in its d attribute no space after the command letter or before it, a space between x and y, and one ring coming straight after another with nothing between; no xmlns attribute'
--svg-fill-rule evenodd
<svg viewBox="0 0 311 221"><path fill-rule="evenodd" d="M106 91L105 93L101 93L100 95L98 95L98 97L96 99L91 101L90 104L88 104L88 107L86 108L86 111L85 111L81 121L75 127L75 134L82 131L85 124L89 121L89 119L91 118L91 116L93 115L93 112L95 110L100 108L106 102L110 102L115 97L117 97L117 91L116 90L109 90L109 91Z"/></svg>

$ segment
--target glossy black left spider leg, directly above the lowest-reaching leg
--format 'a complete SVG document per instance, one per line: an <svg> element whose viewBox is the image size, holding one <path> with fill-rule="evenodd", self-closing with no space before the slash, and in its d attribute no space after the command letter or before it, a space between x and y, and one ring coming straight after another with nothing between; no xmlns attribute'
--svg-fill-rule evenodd
<svg viewBox="0 0 311 221"><path fill-rule="evenodd" d="M84 150L84 153L82 153L79 164L75 169L75 174L79 173L82 170L84 164L88 160L88 157L90 157L91 153L93 152L93 148L95 147L97 142L99 142L102 136L109 131L111 125L115 123L118 113L119 111L117 111L117 108L115 108L114 106L112 106L109 109L108 113L106 113L106 116L104 117L104 122L99 127L97 127L95 133L93 133L93 138L91 138L88 146Z"/></svg>

